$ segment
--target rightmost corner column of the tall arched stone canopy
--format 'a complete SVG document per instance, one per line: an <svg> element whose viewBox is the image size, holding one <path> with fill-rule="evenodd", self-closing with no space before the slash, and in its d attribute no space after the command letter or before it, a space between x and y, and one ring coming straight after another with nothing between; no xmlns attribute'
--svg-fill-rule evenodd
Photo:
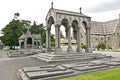
<svg viewBox="0 0 120 80"><path fill-rule="evenodd" d="M87 43L86 52L88 52L88 53L92 52L91 40L90 40L90 36L91 36L90 29L91 29L91 25L90 25L90 23L88 23L87 26L86 26L86 43Z"/></svg>

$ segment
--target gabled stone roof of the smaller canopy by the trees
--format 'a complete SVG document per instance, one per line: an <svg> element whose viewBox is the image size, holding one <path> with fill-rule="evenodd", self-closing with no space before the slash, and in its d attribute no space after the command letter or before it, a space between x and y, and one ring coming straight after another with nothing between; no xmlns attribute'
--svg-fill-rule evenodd
<svg viewBox="0 0 120 80"><path fill-rule="evenodd" d="M31 34L29 30L25 34L21 35L19 37L19 39L25 39L25 38L28 38L28 37L32 37L35 40L40 40L41 39L40 34Z"/></svg>

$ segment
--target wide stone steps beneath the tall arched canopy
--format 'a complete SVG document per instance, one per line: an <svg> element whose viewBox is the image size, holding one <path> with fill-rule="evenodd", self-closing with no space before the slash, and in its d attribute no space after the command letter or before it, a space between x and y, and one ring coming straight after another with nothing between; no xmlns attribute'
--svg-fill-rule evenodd
<svg viewBox="0 0 120 80"><path fill-rule="evenodd" d="M92 59L102 59L108 58L110 56L95 54L95 53L85 53L85 54L49 54L40 53L36 54L36 58L46 61L46 62L57 62L57 61L69 61L69 60L92 60Z"/></svg>

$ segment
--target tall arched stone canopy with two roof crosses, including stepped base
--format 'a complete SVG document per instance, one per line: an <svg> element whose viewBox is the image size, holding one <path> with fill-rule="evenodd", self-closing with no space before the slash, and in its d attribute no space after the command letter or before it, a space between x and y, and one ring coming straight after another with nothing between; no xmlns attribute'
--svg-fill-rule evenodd
<svg viewBox="0 0 120 80"><path fill-rule="evenodd" d="M93 59L94 54L92 53L91 40L90 40L90 29L91 29L91 17L86 16L81 11L72 12L53 8L53 2L51 8L46 16L46 53L40 53L36 57L38 59L54 62L54 61L68 61L68 60L87 60ZM51 47L51 26L55 27L55 50L52 52ZM65 34L67 39L67 51L63 51L60 45L61 38L61 26L65 28ZM86 53L81 54L83 51L81 49L80 41L80 29L84 27L86 30ZM77 48L73 51L71 45L71 29L73 29L73 38L76 40ZM92 57L91 57L92 56Z"/></svg>

